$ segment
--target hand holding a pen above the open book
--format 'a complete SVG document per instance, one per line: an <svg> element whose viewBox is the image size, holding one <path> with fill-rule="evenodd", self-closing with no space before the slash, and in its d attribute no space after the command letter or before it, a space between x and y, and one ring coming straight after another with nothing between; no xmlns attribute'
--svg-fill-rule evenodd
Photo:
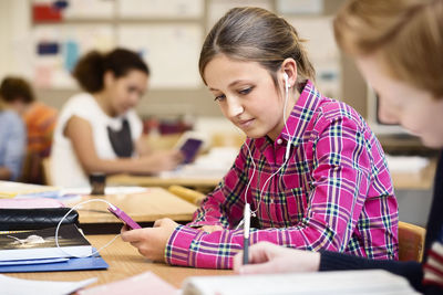
<svg viewBox="0 0 443 295"><path fill-rule="evenodd" d="M243 265L243 252L234 257L234 271L240 274L317 272L320 253L260 242L249 247L249 263Z"/></svg>

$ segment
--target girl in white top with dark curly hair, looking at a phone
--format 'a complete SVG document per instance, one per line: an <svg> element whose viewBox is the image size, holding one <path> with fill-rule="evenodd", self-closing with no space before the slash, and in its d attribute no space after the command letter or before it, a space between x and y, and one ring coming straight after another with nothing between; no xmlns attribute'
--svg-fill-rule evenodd
<svg viewBox="0 0 443 295"><path fill-rule="evenodd" d="M61 110L51 154L53 185L85 187L93 172L154 173L182 161L178 151L154 154L144 147L133 108L146 92L150 71L136 53L90 52L73 75L86 92Z"/></svg>

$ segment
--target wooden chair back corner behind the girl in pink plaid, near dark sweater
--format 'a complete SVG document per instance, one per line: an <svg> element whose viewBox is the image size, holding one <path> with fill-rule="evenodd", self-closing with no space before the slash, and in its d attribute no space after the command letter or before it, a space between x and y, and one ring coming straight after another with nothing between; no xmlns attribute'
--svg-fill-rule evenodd
<svg viewBox="0 0 443 295"><path fill-rule="evenodd" d="M425 234L422 226L399 221L399 260L421 262Z"/></svg>

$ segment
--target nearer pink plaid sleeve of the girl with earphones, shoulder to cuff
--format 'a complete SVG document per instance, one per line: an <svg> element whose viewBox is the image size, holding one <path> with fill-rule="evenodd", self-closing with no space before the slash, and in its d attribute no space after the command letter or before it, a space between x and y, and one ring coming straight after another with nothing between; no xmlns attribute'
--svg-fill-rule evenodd
<svg viewBox="0 0 443 295"><path fill-rule="evenodd" d="M384 198L375 198L374 212L362 213L372 164L364 134L359 130L357 123L348 117L320 120L323 122L318 122L319 136L312 149L316 154L312 173L315 188L309 196L303 219L291 228L253 230L251 243L268 241L298 249L343 252L361 215L365 222L373 222L371 218L396 218L396 204L391 212ZM261 206L265 210L267 204ZM380 226L385 230L384 224ZM241 231L229 230L207 234L178 226L168 241L166 261L195 267L230 268L233 256L241 249ZM384 235L378 238L380 233L377 232L361 234L369 239L368 242L375 240L380 247L385 246ZM385 257L391 259L388 255Z"/></svg>

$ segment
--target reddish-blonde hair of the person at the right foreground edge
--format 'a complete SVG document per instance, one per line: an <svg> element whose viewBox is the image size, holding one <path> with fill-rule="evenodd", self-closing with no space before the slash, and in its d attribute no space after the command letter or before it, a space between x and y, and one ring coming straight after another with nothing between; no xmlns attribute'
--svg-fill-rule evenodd
<svg viewBox="0 0 443 295"><path fill-rule="evenodd" d="M378 54L390 76L443 98L443 0L349 0L333 29L346 52Z"/></svg>

